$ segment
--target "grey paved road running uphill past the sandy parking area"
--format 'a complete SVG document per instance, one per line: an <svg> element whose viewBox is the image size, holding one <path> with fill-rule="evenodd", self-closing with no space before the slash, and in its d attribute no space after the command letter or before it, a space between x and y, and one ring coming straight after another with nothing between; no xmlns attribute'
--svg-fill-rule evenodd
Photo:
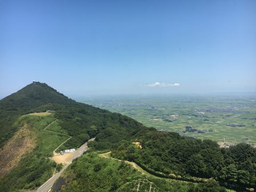
<svg viewBox="0 0 256 192"><path fill-rule="evenodd" d="M89 141L94 141L95 138L91 138ZM65 169L68 168L68 166L71 164L72 160L74 160L75 158L78 158L80 156L82 156L82 154L84 152L86 152L88 150L88 142L86 142L85 144L83 144L82 146L80 146L80 148L78 148L78 150L75 151L74 156L72 157L71 161L68 162L67 165L64 166L64 168L62 170L59 171L59 173L55 174L54 176L52 176L50 179L48 179L48 181L46 181L45 183L43 183L43 185L41 185L38 190L36 190L36 192L47 192L51 189L52 185L54 185L55 181L60 177L60 175L63 173L63 171Z"/></svg>

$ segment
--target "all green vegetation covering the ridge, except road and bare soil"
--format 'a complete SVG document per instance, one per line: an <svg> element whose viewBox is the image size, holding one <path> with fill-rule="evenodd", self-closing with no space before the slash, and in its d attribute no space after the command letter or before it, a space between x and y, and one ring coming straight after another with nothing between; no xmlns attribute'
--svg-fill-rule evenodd
<svg viewBox="0 0 256 192"><path fill-rule="evenodd" d="M47 117L27 114L51 111ZM58 120L49 134L43 128ZM75 160L55 184L55 191L131 191L145 181L157 191L246 191L256 187L256 149L238 144L229 149L217 142L159 132L130 117L78 103L44 83L32 83L0 101L0 146L27 123L36 147L0 178L1 191L32 190L61 168L48 157L68 136L63 148L78 148L89 138L90 152ZM133 144L139 142L141 148ZM99 157L112 152L120 161ZM125 164L135 162L151 174L143 175ZM141 180L142 179L142 180ZM147 188L148 190L148 188Z"/></svg>

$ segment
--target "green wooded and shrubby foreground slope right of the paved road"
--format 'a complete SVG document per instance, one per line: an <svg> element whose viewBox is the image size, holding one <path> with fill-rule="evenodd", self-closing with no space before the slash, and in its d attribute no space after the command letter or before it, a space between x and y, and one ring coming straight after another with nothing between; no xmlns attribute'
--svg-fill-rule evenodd
<svg viewBox="0 0 256 192"><path fill-rule="evenodd" d="M146 174L148 183L153 182L152 186L157 191L217 192L255 189L256 150L250 145L239 144L230 149L221 149L214 141L188 139L177 133L157 132L154 129L141 130L126 141L104 145L112 143L113 137L118 137L118 134L105 129L97 134L97 140L91 142L90 146L103 151L108 146L116 160L128 160L132 165L135 162L140 167L138 170L149 173ZM133 144L135 141L139 142L141 148ZM132 178L127 181L128 176L116 173L119 166L111 165L109 168L109 164L103 163L111 162L113 158L95 159L94 153L88 153L82 158L83 160L79 158L72 165L72 171L68 171L64 180L55 186L60 191L131 191L140 179L145 178L145 175L141 175L140 179ZM97 173L97 169L102 171ZM115 175L118 175L118 179ZM113 189L112 185L116 188Z"/></svg>

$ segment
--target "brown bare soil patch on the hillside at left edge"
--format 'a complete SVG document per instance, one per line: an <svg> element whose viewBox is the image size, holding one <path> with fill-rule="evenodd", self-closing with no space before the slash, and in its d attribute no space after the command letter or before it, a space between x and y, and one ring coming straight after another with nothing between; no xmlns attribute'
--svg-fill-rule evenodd
<svg viewBox="0 0 256 192"><path fill-rule="evenodd" d="M34 149L35 145L35 137L32 137L27 124L23 125L13 138L0 149L0 177L13 169L22 156Z"/></svg>

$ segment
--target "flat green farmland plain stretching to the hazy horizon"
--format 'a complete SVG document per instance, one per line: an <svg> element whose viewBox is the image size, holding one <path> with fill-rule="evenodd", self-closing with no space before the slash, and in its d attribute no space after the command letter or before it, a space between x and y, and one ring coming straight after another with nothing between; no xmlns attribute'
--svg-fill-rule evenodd
<svg viewBox="0 0 256 192"><path fill-rule="evenodd" d="M256 94L97 96L78 101L121 113L159 130L225 142L256 144Z"/></svg>

